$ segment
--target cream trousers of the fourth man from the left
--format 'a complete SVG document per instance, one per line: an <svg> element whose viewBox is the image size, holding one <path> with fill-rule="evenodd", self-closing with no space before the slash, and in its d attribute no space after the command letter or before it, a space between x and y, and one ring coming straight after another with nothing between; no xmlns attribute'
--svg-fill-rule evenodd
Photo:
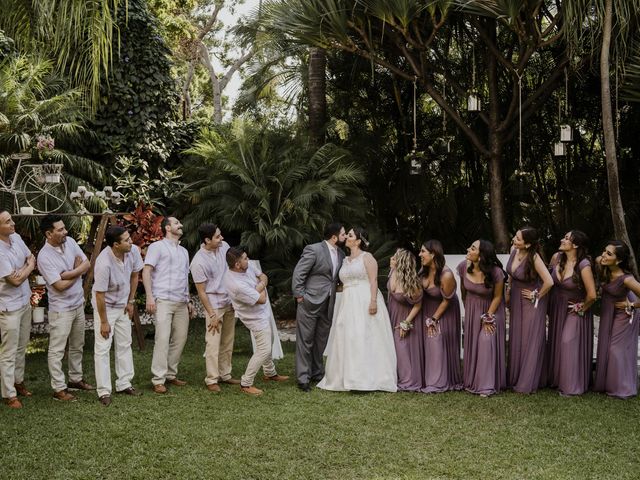
<svg viewBox="0 0 640 480"><path fill-rule="evenodd" d="M162 385L176 378L182 349L189 332L186 302L156 300L156 336L151 359L151 383Z"/></svg>

